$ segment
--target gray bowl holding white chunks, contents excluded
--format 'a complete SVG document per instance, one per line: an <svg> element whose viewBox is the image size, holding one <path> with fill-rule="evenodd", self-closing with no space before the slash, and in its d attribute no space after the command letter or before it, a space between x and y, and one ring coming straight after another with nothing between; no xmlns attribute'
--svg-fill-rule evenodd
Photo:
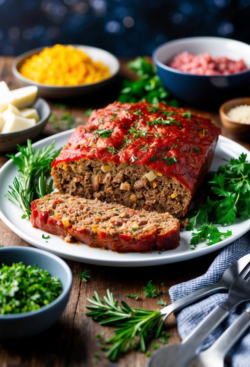
<svg viewBox="0 0 250 367"><path fill-rule="evenodd" d="M0 152L9 152L16 149L16 144L23 145L27 143L27 139L36 138L43 131L51 114L51 109L43 98L37 98L36 102L31 106L38 112L40 120L35 126L25 130L7 132L0 134Z"/></svg>

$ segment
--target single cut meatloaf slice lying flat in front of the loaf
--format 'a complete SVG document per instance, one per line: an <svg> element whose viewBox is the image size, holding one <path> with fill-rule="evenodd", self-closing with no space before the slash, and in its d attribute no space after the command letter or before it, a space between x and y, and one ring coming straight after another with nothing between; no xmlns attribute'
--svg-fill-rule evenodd
<svg viewBox="0 0 250 367"><path fill-rule="evenodd" d="M33 227L113 251L176 248L180 224L169 213L134 210L71 195L47 195L32 202Z"/></svg>

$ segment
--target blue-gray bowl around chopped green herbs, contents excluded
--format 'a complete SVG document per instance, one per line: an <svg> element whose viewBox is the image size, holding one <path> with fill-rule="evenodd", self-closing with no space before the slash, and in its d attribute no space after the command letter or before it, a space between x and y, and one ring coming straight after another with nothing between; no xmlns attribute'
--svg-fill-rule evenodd
<svg viewBox="0 0 250 367"><path fill-rule="evenodd" d="M0 264L11 265L20 262L37 264L52 276L58 276L62 283L62 293L47 306L38 310L18 314L0 315L0 339L30 337L52 326L60 317L69 300L72 273L65 261L49 252L33 247L0 248Z"/></svg>

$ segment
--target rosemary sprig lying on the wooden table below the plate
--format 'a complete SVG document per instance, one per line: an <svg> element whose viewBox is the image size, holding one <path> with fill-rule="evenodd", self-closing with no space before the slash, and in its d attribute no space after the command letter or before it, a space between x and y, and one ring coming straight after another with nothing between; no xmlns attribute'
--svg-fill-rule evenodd
<svg viewBox="0 0 250 367"><path fill-rule="evenodd" d="M161 312L130 308L124 301L121 301L122 306L119 306L109 289L103 299L99 297L98 292L94 293L93 299L86 298L92 304L86 306L92 310L86 315L92 316L100 325L111 325L116 328L115 335L105 341L106 357L115 361L118 355L125 353L129 347L136 349L140 346L141 351L145 353L147 339L161 334L164 323L161 320ZM137 344L135 339L139 340Z"/></svg>

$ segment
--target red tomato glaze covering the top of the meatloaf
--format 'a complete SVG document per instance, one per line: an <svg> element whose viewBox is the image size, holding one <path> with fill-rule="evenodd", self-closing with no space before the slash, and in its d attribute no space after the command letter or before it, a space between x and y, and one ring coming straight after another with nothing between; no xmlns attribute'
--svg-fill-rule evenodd
<svg viewBox="0 0 250 367"><path fill-rule="evenodd" d="M164 103L114 102L94 110L52 162L81 158L139 164L192 189L220 129L211 120ZM109 148L109 149L107 149Z"/></svg>

